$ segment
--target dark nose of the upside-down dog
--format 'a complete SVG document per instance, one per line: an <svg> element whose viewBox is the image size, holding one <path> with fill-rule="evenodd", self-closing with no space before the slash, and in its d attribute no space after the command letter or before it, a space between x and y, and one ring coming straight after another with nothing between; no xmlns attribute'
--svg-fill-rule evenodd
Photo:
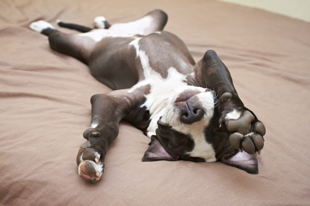
<svg viewBox="0 0 310 206"><path fill-rule="evenodd" d="M184 107L181 111L181 122L184 124L192 124L201 120L203 117L203 111L196 105L188 104L188 107Z"/></svg>

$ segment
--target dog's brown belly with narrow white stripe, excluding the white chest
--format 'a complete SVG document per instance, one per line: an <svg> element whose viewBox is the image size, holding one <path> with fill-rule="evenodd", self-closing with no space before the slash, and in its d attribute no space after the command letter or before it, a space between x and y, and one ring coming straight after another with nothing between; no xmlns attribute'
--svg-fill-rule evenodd
<svg viewBox="0 0 310 206"><path fill-rule="evenodd" d="M163 79L174 68L193 83L193 58L185 44L169 32L154 32L148 36L108 36L91 54L92 75L113 90L131 88L157 72ZM93 37L94 38L94 37ZM176 45L178 45L176 47Z"/></svg>

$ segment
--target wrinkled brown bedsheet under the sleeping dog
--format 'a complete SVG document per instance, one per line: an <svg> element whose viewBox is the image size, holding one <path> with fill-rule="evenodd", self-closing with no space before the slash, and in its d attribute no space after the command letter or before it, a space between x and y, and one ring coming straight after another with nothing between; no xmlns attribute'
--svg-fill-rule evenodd
<svg viewBox="0 0 310 206"><path fill-rule="evenodd" d="M265 126L259 174L220 162L141 162L149 139L121 122L104 174L86 183L76 155L90 97L110 91L83 63L29 29L43 19L92 26L160 8L197 61L215 50ZM75 33L60 28L67 33ZM4 205L309 205L310 23L215 0L1 0L0 203Z"/></svg>

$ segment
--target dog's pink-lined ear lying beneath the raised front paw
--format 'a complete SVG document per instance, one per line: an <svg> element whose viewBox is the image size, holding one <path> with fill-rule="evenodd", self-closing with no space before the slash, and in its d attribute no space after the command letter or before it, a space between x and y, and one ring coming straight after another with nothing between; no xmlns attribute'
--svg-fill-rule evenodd
<svg viewBox="0 0 310 206"><path fill-rule="evenodd" d="M245 170L250 174L258 174L258 161L253 154L237 152L234 155L225 154L221 157L221 162L226 165L237 167Z"/></svg>

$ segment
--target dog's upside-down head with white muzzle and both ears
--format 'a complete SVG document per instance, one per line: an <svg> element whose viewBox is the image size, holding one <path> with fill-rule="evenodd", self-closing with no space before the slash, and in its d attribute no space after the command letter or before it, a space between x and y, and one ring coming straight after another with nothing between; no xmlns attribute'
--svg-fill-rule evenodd
<svg viewBox="0 0 310 206"><path fill-rule="evenodd" d="M237 153L226 131L219 127L215 91L185 86L170 97L157 121L156 135L142 161L215 162L258 173L257 159L246 152Z"/></svg>

